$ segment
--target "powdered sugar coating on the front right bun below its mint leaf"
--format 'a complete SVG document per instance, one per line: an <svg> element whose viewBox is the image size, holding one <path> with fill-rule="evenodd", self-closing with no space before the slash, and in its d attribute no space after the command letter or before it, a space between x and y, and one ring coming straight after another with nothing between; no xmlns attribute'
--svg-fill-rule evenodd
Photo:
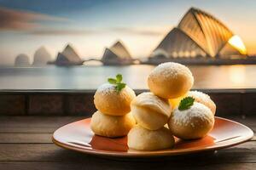
<svg viewBox="0 0 256 170"><path fill-rule="evenodd" d="M193 118L199 118L202 121L212 122L213 115L212 111L205 105L195 102L188 110L179 111L176 108L172 113L172 121L178 126L192 126L195 127L194 123L191 123Z"/></svg>

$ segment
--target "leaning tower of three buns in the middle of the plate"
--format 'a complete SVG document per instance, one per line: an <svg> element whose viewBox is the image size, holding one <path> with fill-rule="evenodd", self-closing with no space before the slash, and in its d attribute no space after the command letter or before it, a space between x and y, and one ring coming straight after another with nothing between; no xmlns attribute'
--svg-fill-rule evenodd
<svg viewBox="0 0 256 170"><path fill-rule="evenodd" d="M151 93L140 94L131 103L137 126L128 133L128 146L136 150L161 150L174 145L172 132L164 127L172 113L168 99L186 94L194 78L177 63L158 65L148 76Z"/></svg>

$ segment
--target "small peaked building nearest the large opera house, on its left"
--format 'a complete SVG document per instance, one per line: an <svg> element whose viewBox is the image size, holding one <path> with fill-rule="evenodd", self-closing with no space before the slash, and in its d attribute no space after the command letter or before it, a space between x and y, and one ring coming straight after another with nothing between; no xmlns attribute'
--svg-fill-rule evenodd
<svg viewBox="0 0 256 170"><path fill-rule="evenodd" d="M106 48L101 60L103 65L129 65L133 62L131 54L120 41Z"/></svg>

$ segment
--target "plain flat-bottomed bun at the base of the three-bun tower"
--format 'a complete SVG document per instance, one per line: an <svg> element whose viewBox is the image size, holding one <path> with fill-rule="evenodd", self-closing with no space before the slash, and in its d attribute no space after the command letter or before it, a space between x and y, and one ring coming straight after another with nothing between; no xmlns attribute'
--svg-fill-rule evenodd
<svg viewBox="0 0 256 170"><path fill-rule="evenodd" d="M163 150L172 148L175 143L172 133L166 127L148 130L136 125L127 136L129 148L135 150Z"/></svg>

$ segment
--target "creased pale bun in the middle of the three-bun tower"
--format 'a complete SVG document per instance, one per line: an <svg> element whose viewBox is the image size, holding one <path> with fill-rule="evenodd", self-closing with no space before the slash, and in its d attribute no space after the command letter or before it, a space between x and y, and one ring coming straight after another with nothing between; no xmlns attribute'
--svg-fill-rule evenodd
<svg viewBox="0 0 256 170"><path fill-rule="evenodd" d="M148 92L139 94L131 101L131 113L140 126L156 130L168 122L171 106L167 99Z"/></svg>

